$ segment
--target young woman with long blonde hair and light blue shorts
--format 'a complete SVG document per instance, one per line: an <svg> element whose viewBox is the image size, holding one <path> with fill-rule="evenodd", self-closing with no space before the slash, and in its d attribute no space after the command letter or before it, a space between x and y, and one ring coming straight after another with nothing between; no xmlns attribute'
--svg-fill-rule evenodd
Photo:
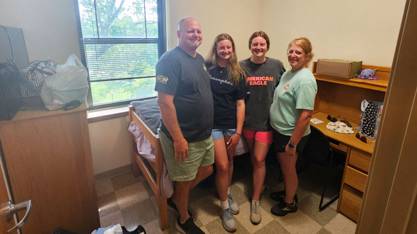
<svg viewBox="0 0 417 234"><path fill-rule="evenodd" d="M228 34L216 37L206 58L213 94L214 158L217 168L216 188L219 193L223 227L236 230L232 214L239 214L239 206L230 195L233 155L242 134L245 101L248 93L245 71L238 64L233 39Z"/></svg>

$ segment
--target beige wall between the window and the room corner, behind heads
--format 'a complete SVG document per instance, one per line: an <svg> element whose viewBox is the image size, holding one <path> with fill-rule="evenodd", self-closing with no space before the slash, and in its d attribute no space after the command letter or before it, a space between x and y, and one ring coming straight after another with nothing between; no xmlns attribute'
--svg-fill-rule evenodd
<svg viewBox="0 0 417 234"><path fill-rule="evenodd" d="M264 14L260 0L166 1L169 9L168 50L178 44L178 21L192 16L200 22L203 32L203 43L198 47L198 53L205 57L214 38L221 33L227 33L234 40L238 60L243 60L251 55L248 48L250 35L262 30L264 25L264 22L260 21Z"/></svg>

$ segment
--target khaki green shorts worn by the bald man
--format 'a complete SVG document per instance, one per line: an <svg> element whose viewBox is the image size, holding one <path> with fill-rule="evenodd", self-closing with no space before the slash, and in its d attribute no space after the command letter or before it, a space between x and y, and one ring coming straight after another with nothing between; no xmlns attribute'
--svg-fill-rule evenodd
<svg viewBox="0 0 417 234"><path fill-rule="evenodd" d="M162 150L165 155L169 177L172 181L191 181L197 175L198 167L214 163L214 142L212 136L205 140L188 143L188 157L184 162L175 160L174 141L159 131Z"/></svg>

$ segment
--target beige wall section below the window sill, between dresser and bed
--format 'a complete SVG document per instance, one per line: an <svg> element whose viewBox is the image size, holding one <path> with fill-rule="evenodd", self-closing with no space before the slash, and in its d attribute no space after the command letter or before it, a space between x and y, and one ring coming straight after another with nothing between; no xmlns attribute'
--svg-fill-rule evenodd
<svg viewBox="0 0 417 234"><path fill-rule="evenodd" d="M88 124L94 174L132 163L127 117Z"/></svg>

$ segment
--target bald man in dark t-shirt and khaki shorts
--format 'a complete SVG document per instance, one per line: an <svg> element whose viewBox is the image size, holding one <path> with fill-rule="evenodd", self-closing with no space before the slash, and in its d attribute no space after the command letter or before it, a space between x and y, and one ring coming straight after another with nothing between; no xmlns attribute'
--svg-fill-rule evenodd
<svg viewBox="0 0 417 234"><path fill-rule="evenodd" d="M178 23L178 46L157 64L155 91L161 109L159 132L168 173L176 181L168 206L179 216L181 233L204 233L187 210L189 191L213 172L213 98L203 57L200 23L191 17Z"/></svg>

